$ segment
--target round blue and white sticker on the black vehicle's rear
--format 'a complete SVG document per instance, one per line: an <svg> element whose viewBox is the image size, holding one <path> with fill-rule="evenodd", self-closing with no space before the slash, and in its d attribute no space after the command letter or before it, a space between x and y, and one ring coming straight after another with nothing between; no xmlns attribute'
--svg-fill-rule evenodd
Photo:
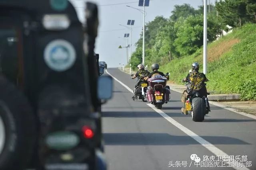
<svg viewBox="0 0 256 170"><path fill-rule="evenodd" d="M68 70L76 61L74 46L64 39L53 40L44 49L44 61L54 71Z"/></svg>

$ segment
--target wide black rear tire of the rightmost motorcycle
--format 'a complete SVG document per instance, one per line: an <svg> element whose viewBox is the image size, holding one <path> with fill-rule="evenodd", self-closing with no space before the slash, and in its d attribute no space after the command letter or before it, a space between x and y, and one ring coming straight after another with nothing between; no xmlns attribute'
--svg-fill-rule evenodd
<svg viewBox="0 0 256 170"><path fill-rule="evenodd" d="M203 121L204 113L205 113L204 100L202 98L193 98L192 108L193 108L192 120L197 122Z"/></svg>

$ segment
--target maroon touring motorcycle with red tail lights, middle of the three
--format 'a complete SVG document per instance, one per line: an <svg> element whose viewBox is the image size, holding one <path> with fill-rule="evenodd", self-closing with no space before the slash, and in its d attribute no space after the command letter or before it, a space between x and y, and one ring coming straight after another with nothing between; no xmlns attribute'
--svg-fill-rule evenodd
<svg viewBox="0 0 256 170"><path fill-rule="evenodd" d="M170 87L166 86L167 72L165 76L156 75L148 79L148 89L146 91L146 99L157 109L162 109L163 104L167 104L170 100Z"/></svg>

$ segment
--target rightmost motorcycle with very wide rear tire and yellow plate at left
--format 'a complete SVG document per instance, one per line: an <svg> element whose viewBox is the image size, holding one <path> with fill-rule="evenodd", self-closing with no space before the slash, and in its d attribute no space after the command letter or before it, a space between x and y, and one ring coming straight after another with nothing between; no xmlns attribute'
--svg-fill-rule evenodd
<svg viewBox="0 0 256 170"><path fill-rule="evenodd" d="M207 93L209 95L210 93ZM204 116L209 113L208 98L198 92L188 93L185 91L184 114L192 116L193 121L204 121Z"/></svg>

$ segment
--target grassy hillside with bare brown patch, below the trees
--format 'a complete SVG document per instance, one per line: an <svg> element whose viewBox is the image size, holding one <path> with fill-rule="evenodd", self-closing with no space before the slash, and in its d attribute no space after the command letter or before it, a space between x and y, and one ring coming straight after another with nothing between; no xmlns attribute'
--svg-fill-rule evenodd
<svg viewBox="0 0 256 170"><path fill-rule="evenodd" d="M181 84L191 64L198 62L202 72L202 49L193 55L160 66L170 72L170 80ZM208 45L209 91L238 93L244 100L256 100L256 24L246 24Z"/></svg>

